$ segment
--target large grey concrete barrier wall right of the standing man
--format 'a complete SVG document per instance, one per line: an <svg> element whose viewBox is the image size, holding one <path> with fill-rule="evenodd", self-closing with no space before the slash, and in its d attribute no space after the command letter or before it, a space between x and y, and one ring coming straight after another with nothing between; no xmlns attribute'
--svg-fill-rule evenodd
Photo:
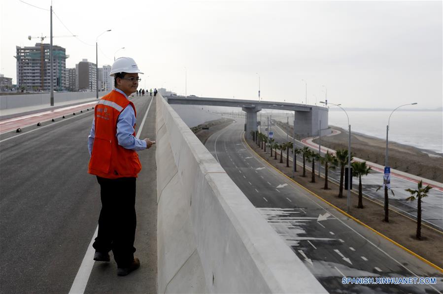
<svg viewBox="0 0 443 294"><path fill-rule="evenodd" d="M163 97L159 293L327 293Z"/></svg>

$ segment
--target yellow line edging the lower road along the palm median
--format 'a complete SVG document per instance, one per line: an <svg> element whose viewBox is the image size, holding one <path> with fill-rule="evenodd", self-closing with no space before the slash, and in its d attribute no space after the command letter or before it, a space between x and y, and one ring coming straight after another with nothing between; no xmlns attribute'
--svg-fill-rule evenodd
<svg viewBox="0 0 443 294"><path fill-rule="evenodd" d="M306 187L302 186L301 184L299 184L298 182L296 182L294 179L288 177L287 175L285 175L284 173L282 173L280 170L278 170L276 167L274 167L271 163L269 163L268 161L266 161L264 158L262 158L257 152L254 151L254 149L251 148L251 146L249 146L249 143L244 139L244 132L243 132L243 141L246 143L246 145L248 146L248 148L254 152L261 160L263 160L265 163L267 163L269 166L271 166L273 169L275 169L277 172L279 172L280 174L282 174L283 176L285 176L287 179L289 179L290 181L294 182L295 184L297 184L298 186L300 186L301 188L303 188L304 190L306 190L307 192L309 192L310 194L312 194L313 196L316 196L317 198L319 198L320 200L324 201L325 203L329 204L330 206L334 207L335 209L337 209L339 212L341 212L342 214L344 214L345 216L347 216L348 218L354 220L355 222L357 222L358 224L364 226L367 229L370 229L372 231L374 231L376 234L378 234L379 236L385 238L386 240L392 242L393 244L397 245L398 247L402 248L403 250L405 250L406 252L408 252L409 254L415 256L416 258L418 258L419 260L429 264L430 266L434 267L435 269L439 270L440 272L443 273L443 268L439 267L438 265L432 263L431 261L428 261L427 259L419 256L418 254L416 254L415 252L409 250L408 248L406 248L405 246L397 243L396 241L392 240L391 238L385 236L384 234L380 233L379 231L377 231L376 229L373 229L371 227L369 227L368 225L366 225L365 223L363 223L362 221L356 219L355 217L353 217L352 215L348 214L347 212L341 210L340 208L338 208L337 206L335 206L334 204L332 204L331 202L323 199L321 196L318 196L317 194L315 194L314 192L308 190Z"/></svg>

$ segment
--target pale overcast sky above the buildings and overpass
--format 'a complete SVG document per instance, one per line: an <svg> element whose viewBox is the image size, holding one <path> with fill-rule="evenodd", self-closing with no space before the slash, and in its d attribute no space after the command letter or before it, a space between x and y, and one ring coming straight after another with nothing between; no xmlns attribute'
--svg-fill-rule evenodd
<svg viewBox="0 0 443 294"><path fill-rule="evenodd" d="M40 42L28 35L43 34L49 43L51 1L25 2L47 10L0 0L0 73L13 83L15 46ZM67 67L95 63L97 40L99 66L132 57L144 72L143 88L258 99L260 87L267 101L320 105L327 92L329 103L343 107L442 107L442 1L53 0L52 6L53 44L66 48Z"/></svg>

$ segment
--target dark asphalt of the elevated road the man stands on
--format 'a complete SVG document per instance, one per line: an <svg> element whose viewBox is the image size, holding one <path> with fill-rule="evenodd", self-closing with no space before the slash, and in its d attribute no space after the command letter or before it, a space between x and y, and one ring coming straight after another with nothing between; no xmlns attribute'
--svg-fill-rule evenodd
<svg viewBox="0 0 443 294"><path fill-rule="evenodd" d="M133 98L137 125L149 97ZM153 103L154 104L154 103ZM42 127L0 135L0 292L68 293L101 209L100 189L87 173L92 111ZM155 106L140 137L154 138ZM141 267L117 277L116 263L95 262L85 293L157 292L155 147L139 152L136 256ZM111 254L112 260L112 254ZM87 284L86 284L87 282Z"/></svg>

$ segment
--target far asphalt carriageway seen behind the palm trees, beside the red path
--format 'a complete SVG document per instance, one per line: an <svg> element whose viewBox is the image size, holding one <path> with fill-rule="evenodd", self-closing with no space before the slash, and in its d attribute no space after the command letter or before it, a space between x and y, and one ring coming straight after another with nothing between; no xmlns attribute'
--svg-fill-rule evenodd
<svg viewBox="0 0 443 294"><path fill-rule="evenodd" d="M266 119L262 118L263 120ZM283 120L283 119L282 119ZM286 122L286 121L285 121ZM262 126L264 128L264 126ZM264 129L262 129L264 131ZM279 128L278 126L272 126L272 131L274 139L277 142L286 142L286 132ZM265 131L264 131L265 132ZM289 140L292 142L292 137L289 135ZM296 141L296 146L298 148L303 148L303 143ZM318 151L318 149L316 150ZM322 153L323 154L323 153ZM290 156L292 158L292 156ZM302 162L302 157L298 157L298 162ZM310 166L310 163L307 163ZM318 164L315 164L315 168L318 169ZM321 167L321 174L324 174L324 167ZM332 170L329 169L328 175L332 181L340 183L340 169ZM371 199L378 201L379 203L384 203L384 190L383 188L376 191L383 181L383 174L376 170L371 170L370 174L362 177L363 194ZM358 191L358 181L357 178L353 178L354 191ZM402 179L399 177L391 177L391 188L395 193L395 196L389 192L389 206L396 209L397 211L416 219L417 216L417 203L407 201L406 198L410 196L409 192L405 189L416 189L417 184ZM356 190L357 189L357 190ZM343 193L346 193L344 191ZM431 189L429 196L423 199L422 202L422 221L427 225L443 231L443 192L437 189Z"/></svg>

